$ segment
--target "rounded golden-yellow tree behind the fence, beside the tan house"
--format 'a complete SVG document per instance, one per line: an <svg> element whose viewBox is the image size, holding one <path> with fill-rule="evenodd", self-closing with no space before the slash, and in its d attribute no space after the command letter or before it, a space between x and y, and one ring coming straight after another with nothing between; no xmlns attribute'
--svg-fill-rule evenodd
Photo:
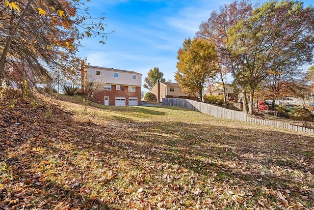
<svg viewBox="0 0 314 210"><path fill-rule="evenodd" d="M175 80L181 90L189 95L199 96L208 78L217 73L217 53L214 44L202 38L185 39L178 50Z"/></svg>

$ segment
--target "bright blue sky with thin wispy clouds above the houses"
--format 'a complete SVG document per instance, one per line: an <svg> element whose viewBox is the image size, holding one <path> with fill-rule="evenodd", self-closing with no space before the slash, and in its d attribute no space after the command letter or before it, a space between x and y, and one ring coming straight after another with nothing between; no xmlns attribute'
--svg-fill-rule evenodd
<svg viewBox="0 0 314 210"><path fill-rule="evenodd" d="M144 78L158 67L166 80L174 80L177 52L185 38L193 38L212 11L234 0L90 0L91 14L105 15L106 44L84 40L79 50L90 65L136 71ZM265 0L251 0L252 3ZM304 5L314 0L303 0ZM148 91L142 87L142 91Z"/></svg>

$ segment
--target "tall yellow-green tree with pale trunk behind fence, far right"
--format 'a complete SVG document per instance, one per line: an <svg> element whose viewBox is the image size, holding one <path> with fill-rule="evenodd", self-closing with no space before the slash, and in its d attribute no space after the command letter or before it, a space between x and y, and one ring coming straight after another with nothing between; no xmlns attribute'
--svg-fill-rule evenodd
<svg viewBox="0 0 314 210"><path fill-rule="evenodd" d="M232 73L235 83L249 90L250 114L255 90L271 72L313 60L313 16L313 7L303 8L302 2L270 1L228 29Z"/></svg>

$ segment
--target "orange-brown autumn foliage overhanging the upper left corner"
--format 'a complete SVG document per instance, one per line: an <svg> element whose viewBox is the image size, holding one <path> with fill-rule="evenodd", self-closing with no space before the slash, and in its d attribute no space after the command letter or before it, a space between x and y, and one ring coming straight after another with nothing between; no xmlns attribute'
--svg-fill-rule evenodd
<svg viewBox="0 0 314 210"><path fill-rule="evenodd" d="M51 71L79 74L81 41L91 37L105 44L104 19L90 15L79 0L1 0L0 79L8 79L8 69L34 84L51 79Z"/></svg>

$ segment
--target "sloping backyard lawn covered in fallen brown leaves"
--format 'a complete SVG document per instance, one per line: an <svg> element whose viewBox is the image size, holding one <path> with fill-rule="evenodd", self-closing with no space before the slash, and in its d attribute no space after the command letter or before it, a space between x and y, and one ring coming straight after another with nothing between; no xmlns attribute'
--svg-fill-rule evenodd
<svg viewBox="0 0 314 210"><path fill-rule="evenodd" d="M0 99L0 209L314 209L314 136L174 107Z"/></svg>

